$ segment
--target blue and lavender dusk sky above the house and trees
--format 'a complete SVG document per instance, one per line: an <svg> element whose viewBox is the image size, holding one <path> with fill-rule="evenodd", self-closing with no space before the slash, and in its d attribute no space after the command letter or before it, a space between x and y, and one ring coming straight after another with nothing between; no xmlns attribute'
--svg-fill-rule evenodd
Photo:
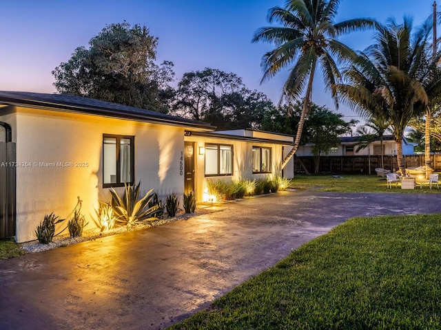
<svg viewBox="0 0 441 330"><path fill-rule="evenodd" d="M70 58L106 24L127 21L150 28L158 37L157 61L172 61L176 81L205 67L234 72L249 89L278 102L286 74L260 85L260 59L271 45L251 43L256 29L268 25L267 11L284 0L0 0L0 90L53 93L52 70ZM433 0L342 0L336 21L371 17L384 23L404 15L420 25ZM438 1L438 11L441 1ZM440 32L438 32L440 34ZM356 50L371 42L372 32L341 40ZM313 100L334 109L316 78ZM345 107L347 120L356 114Z"/></svg>

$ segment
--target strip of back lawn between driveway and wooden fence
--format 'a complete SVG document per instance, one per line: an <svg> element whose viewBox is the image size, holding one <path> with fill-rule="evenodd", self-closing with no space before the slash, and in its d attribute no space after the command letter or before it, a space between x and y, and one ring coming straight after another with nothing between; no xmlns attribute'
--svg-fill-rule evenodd
<svg viewBox="0 0 441 330"><path fill-rule="evenodd" d="M376 175L296 175L291 188L335 192L393 192L400 194L441 194L436 186L416 186L415 189L401 189L400 185L387 188L386 177Z"/></svg>

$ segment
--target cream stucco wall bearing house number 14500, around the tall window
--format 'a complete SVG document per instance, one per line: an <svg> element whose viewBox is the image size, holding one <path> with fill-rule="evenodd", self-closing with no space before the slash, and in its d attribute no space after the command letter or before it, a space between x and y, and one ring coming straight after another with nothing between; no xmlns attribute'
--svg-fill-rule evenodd
<svg viewBox="0 0 441 330"><path fill-rule="evenodd" d="M45 214L70 217L77 196L89 226L103 188L103 133L134 135L135 182L160 197L183 193L179 166L184 129L57 111L17 109L17 241L35 239ZM53 165L55 164L55 165ZM123 191L123 188L116 190Z"/></svg>

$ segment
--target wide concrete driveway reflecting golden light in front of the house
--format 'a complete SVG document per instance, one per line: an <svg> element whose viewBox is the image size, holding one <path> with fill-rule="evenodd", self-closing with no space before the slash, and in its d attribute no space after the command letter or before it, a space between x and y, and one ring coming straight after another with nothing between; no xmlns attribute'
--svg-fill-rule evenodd
<svg viewBox="0 0 441 330"><path fill-rule="evenodd" d="M0 261L0 329L163 329L346 219L435 212L440 195L278 192Z"/></svg>

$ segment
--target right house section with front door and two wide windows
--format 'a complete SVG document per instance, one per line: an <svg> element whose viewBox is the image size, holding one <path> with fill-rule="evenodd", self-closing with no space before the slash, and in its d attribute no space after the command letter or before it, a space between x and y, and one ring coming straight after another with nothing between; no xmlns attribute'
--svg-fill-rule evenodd
<svg viewBox="0 0 441 330"><path fill-rule="evenodd" d="M238 181L267 176L292 178L294 171L289 173L280 167L292 142L292 135L249 129L187 133L185 157L187 159L189 153L194 156L185 162L189 169L185 190L195 190L198 201L206 201L207 180ZM194 164L194 168L188 164ZM194 179L193 183L191 179Z"/></svg>

